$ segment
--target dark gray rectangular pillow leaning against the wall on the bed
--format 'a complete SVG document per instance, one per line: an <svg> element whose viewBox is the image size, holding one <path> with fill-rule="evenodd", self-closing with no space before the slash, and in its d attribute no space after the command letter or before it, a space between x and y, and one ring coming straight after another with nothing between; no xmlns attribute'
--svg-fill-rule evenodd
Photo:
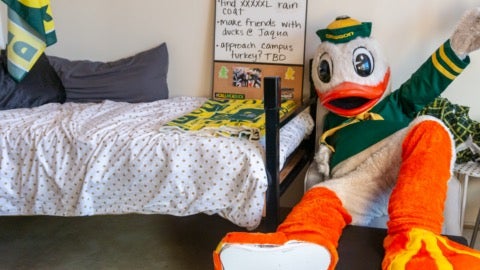
<svg viewBox="0 0 480 270"><path fill-rule="evenodd" d="M165 43L113 62L48 58L65 86L67 102L135 103L168 98Z"/></svg>

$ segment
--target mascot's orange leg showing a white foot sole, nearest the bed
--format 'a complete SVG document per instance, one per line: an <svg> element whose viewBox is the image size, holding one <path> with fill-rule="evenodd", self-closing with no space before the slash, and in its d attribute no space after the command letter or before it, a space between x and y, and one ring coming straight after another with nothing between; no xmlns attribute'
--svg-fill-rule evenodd
<svg viewBox="0 0 480 270"><path fill-rule="evenodd" d="M350 221L335 193L312 188L277 232L227 234L213 254L215 269L334 269L338 240Z"/></svg>

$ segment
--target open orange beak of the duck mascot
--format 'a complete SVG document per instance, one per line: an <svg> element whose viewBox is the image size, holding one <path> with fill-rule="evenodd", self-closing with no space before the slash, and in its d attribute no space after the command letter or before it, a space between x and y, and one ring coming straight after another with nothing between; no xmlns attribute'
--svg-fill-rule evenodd
<svg viewBox="0 0 480 270"><path fill-rule="evenodd" d="M390 69L383 80L374 86L343 82L328 92L319 93L321 104L331 112L354 117L370 110L382 99L390 81Z"/></svg>

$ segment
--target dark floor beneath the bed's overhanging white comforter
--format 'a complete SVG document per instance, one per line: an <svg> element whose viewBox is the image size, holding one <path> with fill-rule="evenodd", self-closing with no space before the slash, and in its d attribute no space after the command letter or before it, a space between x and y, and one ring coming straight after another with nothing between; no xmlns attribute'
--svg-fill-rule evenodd
<svg viewBox="0 0 480 270"><path fill-rule="evenodd" d="M0 269L213 269L216 216L0 217Z"/></svg>

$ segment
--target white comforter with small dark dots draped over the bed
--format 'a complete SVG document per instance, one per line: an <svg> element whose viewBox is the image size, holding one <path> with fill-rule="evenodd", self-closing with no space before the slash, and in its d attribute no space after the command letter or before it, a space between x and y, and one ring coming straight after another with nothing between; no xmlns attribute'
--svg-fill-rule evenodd
<svg viewBox="0 0 480 270"><path fill-rule="evenodd" d="M267 189L261 144L159 131L204 101L0 111L0 215L203 212L255 228Z"/></svg>

